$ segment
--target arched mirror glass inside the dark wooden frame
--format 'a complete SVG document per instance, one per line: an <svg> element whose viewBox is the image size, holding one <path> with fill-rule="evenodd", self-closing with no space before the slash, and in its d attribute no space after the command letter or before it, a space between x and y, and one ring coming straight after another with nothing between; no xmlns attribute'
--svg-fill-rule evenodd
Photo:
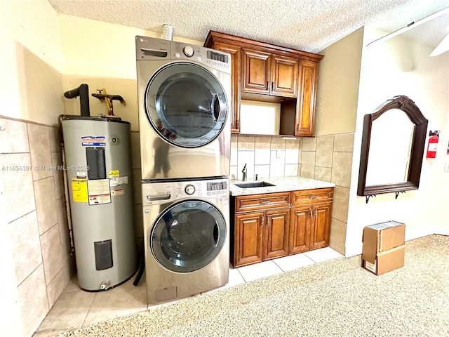
<svg viewBox="0 0 449 337"><path fill-rule="evenodd" d="M408 180L414 126L399 109L388 110L375 120L371 127L367 186Z"/></svg>

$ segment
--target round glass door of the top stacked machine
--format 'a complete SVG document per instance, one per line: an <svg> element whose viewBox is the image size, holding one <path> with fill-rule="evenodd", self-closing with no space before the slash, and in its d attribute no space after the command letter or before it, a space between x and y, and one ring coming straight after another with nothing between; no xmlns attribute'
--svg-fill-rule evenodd
<svg viewBox="0 0 449 337"><path fill-rule="evenodd" d="M220 135L227 98L217 78L189 62L170 63L145 88L145 111L161 138L180 147L201 147Z"/></svg>

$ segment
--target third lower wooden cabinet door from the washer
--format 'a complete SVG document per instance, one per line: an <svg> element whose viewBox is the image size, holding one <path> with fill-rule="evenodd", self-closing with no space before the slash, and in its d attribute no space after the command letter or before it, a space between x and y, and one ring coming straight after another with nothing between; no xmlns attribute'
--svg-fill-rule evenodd
<svg viewBox="0 0 449 337"><path fill-rule="evenodd" d="M288 253L302 253L309 251L311 206L300 206L290 210L290 232L288 240Z"/></svg>

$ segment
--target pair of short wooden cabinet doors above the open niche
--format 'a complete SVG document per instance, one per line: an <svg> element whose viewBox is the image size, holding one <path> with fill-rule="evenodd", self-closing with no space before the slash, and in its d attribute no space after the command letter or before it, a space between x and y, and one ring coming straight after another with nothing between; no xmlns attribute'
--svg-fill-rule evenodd
<svg viewBox="0 0 449 337"><path fill-rule="evenodd" d="M242 91L295 98L297 58L243 48Z"/></svg>

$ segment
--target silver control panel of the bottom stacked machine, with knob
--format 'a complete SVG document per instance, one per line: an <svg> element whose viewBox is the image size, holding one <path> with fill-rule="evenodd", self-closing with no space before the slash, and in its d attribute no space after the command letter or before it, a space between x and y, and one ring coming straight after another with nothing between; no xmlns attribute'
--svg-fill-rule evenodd
<svg viewBox="0 0 449 337"><path fill-rule="evenodd" d="M189 181L144 182L142 184L144 205L164 204L179 199L227 199L229 179L205 179Z"/></svg>

